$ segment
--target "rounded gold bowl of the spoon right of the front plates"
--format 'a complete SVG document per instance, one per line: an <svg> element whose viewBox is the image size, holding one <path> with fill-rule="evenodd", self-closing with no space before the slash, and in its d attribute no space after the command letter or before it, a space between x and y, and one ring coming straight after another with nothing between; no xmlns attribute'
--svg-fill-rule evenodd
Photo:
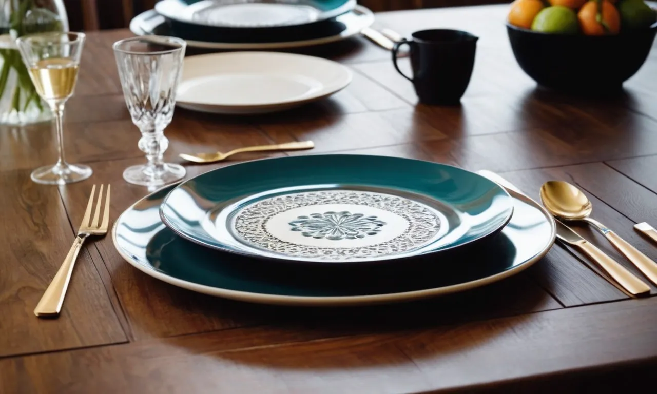
<svg viewBox="0 0 657 394"><path fill-rule="evenodd" d="M593 206L576 186L564 181L549 181L541 186L541 202L550 213L566 220L589 217Z"/></svg>

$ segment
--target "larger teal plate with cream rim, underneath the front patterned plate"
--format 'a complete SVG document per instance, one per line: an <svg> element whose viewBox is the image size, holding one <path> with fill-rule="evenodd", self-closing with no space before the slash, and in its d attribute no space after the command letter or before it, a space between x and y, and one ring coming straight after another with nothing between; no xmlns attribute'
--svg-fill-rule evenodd
<svg viewBox="0 0 657 394"><path fill-rule="evenodd" d="M168 229L159 208L173 188L150 194L116 220L112 229L116 250L154 278L239 301L342 306L434 297L516 274L543 257L555 242L553 219L532 200L514 194L516 214L509 224L482 240L478 248L445 252L454 264L432 264L434 258L427 256L401 266L271 265L204 248Z"/></svg>

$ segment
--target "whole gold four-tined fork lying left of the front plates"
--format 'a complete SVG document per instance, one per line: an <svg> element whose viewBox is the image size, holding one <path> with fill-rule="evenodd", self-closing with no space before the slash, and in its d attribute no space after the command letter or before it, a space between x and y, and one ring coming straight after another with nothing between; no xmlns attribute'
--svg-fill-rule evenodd
<svg viewBox="0 0 657 394"><path fill-rule="evenodd" d="M91 208L93 208L93 195L96 192L96 185L93 185L91 188L91 196L89 196L89 202L87 203L87 210L84 213L82 224L78 229L78 236L76 236L73 246L68 251L64 263L62 263L59 271L55 274L55 278L53 278L50 286L48 286L43 296L41 296L41 300L34 309L34 315L38 317L56 317L59 315L59 311L62 310L62 303L64 303L64 295L66 295L68 282L71 280L73 267L76 264L82 244L88 236L104 235L107 233L107 227L110 223L110 185L107 185L105 209L102 214L102 222L99 224L101 219L102 186L98 192L98 202L96 203L96 210L93 213L93 221L91 221Z"/></svg>

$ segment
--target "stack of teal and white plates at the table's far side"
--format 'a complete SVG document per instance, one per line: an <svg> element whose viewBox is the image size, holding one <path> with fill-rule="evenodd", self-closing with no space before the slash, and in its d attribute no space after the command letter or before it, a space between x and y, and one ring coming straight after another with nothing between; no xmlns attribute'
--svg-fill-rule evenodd
<svg viewBox="0 0 657 394"><path fill-rule="evenodd" d="M130 30L206 49L283 49L341 41L373 22L355 0L162 0Z"/></svg>

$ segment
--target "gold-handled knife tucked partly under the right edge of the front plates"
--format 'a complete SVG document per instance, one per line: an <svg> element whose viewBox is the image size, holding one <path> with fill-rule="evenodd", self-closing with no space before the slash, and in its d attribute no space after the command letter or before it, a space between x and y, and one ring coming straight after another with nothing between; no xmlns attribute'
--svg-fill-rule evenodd
<svg viewBox="0 0 657 394"><path fill-rule="evenodd" d="M478 171L479 175L486 177L491 181L497 183L498 185L506 188L507 190L512 190L516 193L526 196L520 189L512 185L506 179L500 177L496 173L491 171ZM639 279L635 274L627 271L618 261L612 259L609 255L602 252L598 249L597 246L591 244L577 232L574 232L570 227L564 225L557 219L556 223L556 238L561 242L572 245L578 248L582 253L587 255L591 261L593 261L604 273L608 274L611 278L616 280L629 294L631 295L646 295L650 294L650 286L648 286L643 280Z"/></svg>

